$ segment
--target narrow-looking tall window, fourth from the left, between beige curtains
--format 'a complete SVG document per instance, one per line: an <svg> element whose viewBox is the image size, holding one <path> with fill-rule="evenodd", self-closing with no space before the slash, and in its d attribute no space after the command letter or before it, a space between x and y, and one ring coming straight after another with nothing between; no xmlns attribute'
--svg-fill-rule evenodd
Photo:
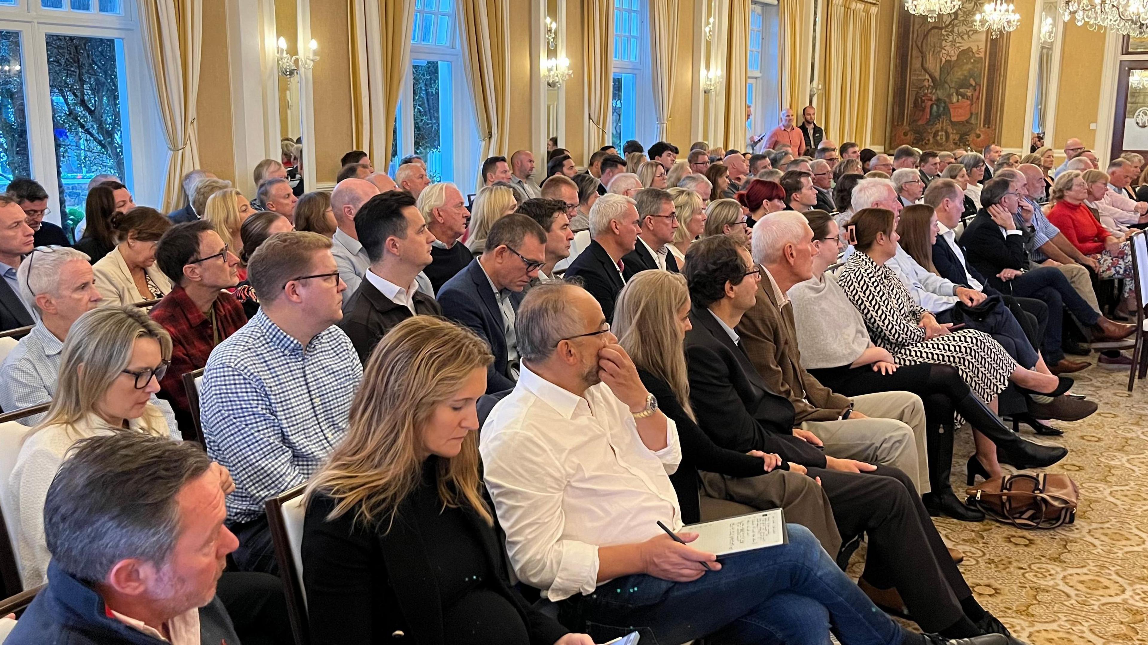
<svg viewBox="0 0 1148 645"><path fill-rule="evenodd" d="M750 56L746 96L753 109L753 135L769 132L781 112L777 0L753 0L750 6Z"/></svg>

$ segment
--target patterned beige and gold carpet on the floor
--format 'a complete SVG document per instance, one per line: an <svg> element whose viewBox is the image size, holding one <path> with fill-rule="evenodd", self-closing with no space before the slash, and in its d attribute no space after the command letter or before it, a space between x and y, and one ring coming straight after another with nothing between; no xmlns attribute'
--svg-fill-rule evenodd
<svg viewBox="0 0 1148 645"><path fill-rule="evenodd" d="M1064 436L1038 441L1070 450L1048 471L1079 485L1076 523L1025 531L993 521L934 521L964 553L961 570L977 599L1016 637L1032 645L1148 643L1148 383L1138 381L1130 395L1127 368L1097 365L1072 376L1073 391L1100 410L1075 423L1054 422ZM1025 426L1021 432L1034 437ZM956 453L972 453L968 432L957 435ZM963 496L963 460L954 465L953 489ZM854 575L860 555L850 567Z"/></svg>

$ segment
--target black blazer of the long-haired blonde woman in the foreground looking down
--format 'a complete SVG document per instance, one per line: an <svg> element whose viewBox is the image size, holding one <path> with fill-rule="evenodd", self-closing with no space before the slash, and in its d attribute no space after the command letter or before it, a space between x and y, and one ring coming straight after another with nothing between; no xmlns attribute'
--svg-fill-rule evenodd
<svg viewBox="0 0 1148 645"><path fill-rule="evenodd" d="M404 507L417 498L409 496ZM424 535L417 521L404 519L402 508L389 533L372 531L352 526L354 512L326 521L333 508L329 497L318 495L308 504L303 521L303 584L312 644L448 645L442 599L425 545L475 536L490 570L498 573L487 582L518 609L530 643L550 645L567 634L507 584L496 529L468 507L464 506L463 513L474 529L470 535ZM400 639L402 635L406 638Z"/></svg>

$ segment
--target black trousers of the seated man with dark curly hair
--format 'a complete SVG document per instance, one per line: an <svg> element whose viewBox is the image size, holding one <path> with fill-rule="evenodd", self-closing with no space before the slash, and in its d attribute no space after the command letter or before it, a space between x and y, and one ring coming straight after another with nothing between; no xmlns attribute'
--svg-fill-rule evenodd
<svg viewBox="0 0 1148 645"><path fill-rule="evenodd" d="M964 616L961 600L972 591L908 475L877 466L872 473L809 468L809 476L821 477L841 537L868 535L866 581L895 588L924 631L940 631Z"/></svg>

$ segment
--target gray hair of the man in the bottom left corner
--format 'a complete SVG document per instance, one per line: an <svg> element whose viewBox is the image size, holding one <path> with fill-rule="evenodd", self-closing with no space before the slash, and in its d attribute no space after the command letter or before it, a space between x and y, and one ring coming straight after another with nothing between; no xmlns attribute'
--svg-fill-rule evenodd
<svg viewBox="0 0 1148 645"><path fill-rule="evenodd" d="M179 538L176 498L211 467L207 453L144 433L82 438L70 452L44 504L52 561L90 585L130 558L164 568Z"/></svg>

